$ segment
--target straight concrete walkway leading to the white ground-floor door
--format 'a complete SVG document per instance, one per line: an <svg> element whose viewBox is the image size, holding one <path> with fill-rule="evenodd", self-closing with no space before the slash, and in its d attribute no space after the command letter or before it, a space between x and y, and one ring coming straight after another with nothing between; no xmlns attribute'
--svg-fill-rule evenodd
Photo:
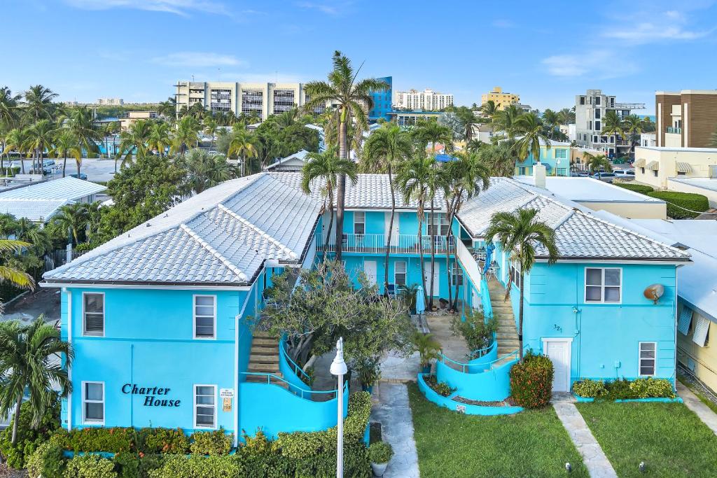
<svg viewBox="0 0 717 478"><path fill-rule="evenodd" d="M615 470L600 448L569 394L554 396L553 408L578 449L592 478L617 478Z"/></svg>

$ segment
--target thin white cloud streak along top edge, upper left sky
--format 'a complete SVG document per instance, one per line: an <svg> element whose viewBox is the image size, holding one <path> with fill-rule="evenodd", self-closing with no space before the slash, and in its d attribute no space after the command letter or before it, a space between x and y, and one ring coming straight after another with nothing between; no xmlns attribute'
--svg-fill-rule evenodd
<svg viewBox="0 0 717 478"><path fill-rule="evenodd" d="M189 16L190 11L229 15L224 4L210 0L65 0L70 6L85 10L137 9L163 11Z"/></svg>

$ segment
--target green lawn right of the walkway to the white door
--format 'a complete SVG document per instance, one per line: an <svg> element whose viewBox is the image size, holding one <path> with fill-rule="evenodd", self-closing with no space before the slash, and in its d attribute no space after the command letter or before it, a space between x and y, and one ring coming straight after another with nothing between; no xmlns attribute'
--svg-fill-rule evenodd
<svg viewBox="0 0 717 478"><path fill-rule="evenodd" d="M682 403L577 407L619 477L717 477L717 436Z"/></svg>

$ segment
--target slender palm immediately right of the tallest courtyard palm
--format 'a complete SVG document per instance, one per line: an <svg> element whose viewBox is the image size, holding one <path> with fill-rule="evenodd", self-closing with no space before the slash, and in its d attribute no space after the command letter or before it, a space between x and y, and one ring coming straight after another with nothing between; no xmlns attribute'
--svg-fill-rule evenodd
<svg viewBox="0 0 717 478"><path fill-rule="evenodd" d="M386 261L384 270L384 294L389 291L389 252L391 249L391 234L394 228L394 216L396 215L396 190L394 186L393 171L399 163L411 156L413 145L408 133L395 123L386 123L378 130L371 133L366 140L364 154L361 155L359 166L365 173L387 173L389 175L389 187L391 188L391 219L389 219L389 230L386 234Z"/></svg>

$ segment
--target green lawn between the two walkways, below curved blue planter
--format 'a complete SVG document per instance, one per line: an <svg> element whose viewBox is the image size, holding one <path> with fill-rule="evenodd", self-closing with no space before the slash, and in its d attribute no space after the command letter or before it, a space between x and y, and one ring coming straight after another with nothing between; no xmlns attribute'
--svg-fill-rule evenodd
<svg viewBox="0 0 717 478"><path fill-rule="evenodd" d="M552 407L514 416L469 416L427 401L409 385L422 477L587 477ZM565 463L573 472L567 474Z"/></svg>

